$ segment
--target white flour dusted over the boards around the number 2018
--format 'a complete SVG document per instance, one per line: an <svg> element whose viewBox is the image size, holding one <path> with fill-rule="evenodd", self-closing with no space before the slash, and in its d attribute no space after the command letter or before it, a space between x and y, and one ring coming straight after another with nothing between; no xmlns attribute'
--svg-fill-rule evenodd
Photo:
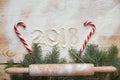
<svg viewBox="0 0 120 80"><path fill-rule="evenodd" d="M79 44L76 44L78 50L81 47L86 35L91 30L90 27L83 27L83 22L92 20L96 24L96 32L90 42L99 44L97 40L100 36L109 38L116 32L120 25L120 5L116 5L114 0L10 0L5 7L6 25L4 33L9 40L11 50L18 48L18 53L26 53L22 43L14 33L13 26L18 21L24 21L28 26L25 30L19 27L20 32L25 37L28 44L32 44L31 33L34 30L42 29L46 31L55 28L58 32L61 28L76 28L79 38ZM70 42L65 31L65 48L61 48L61 55L67 56ZM46 40L46 42L48 42ZM44 47L44 53L51 47Z"/></svg>

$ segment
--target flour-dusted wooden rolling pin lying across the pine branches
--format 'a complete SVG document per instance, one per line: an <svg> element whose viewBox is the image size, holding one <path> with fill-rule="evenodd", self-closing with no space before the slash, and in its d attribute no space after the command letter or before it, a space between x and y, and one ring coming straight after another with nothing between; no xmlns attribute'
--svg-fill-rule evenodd
<svg viewBox="0 0 120 80"><path fill-rule="evenodd" d="M7 73L29 73L30 76L87 76L95 72L114 72L113 66L94 67L93 64L31 64L29 68L7 68Z"/></svg>

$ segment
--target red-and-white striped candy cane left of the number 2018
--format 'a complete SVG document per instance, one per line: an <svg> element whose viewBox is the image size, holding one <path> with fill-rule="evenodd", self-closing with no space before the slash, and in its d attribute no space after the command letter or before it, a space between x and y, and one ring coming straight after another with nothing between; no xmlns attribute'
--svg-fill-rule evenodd
<svg viewBox="0 0 120 80"><path fill-rule="evenodd" d="M21 33L17 29L18 25L21 25L23 28L26 28L26 25L23 22L18 22L17 24L14 25L14 30L15 30L17 36L19 37L19 39L21 40L21 42L24 44L24 46L27 49L28 53L32 54L32 50L29 48L27 42L25 41L25 39L22 37Z"/></svg>

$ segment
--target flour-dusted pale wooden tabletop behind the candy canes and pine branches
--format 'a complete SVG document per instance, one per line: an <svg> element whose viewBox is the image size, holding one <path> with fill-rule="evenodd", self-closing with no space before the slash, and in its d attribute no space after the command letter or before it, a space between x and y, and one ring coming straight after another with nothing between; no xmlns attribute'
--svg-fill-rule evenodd
<svg viewBox="0 0 120 80"><path fill-rule="evenodd" d="M25 30L21 27L19 29L29 45L32 44L34 36L38 35L32 34L34 30L40 29L49 34L52 28L59 33L65 28L66 47L60 48L63 56L63 52L72 46L68 29L78 30L76 36L79 42L74 47L79 50L91 30L90 27L83 27L86 20L94 22L97 27L89 43L98 44L104 49L114 44L120 49L119 14L120 0L0 0L0 78L9 78L2 63L10 59L19 62L27 53L14 33L13 26L16 22L24 21L28 26ZM54 38L54 34L50 37ZM45 39L45 42L49 41ZM43 46L44 54L50 49L50 46ZM67 53L64 56L67 57Z"/></svg>

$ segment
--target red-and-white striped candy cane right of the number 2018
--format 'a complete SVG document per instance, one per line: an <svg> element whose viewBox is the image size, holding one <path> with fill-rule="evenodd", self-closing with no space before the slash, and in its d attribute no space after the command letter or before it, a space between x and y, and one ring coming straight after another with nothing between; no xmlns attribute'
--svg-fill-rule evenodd
<svg viewBox="0 0 120 80"><path fill-rule="evenodd" d="M86 22L84 22L83 25L84 25L84 26L90 25L90 26L92 27L92 30L91 30L90 33L87 35L87 38L84 40L84 43L83 43L82 47L80 48L80 53L83 52L83 50L84 50L87 42L89 41L89 39L91 38L91 36L93 35L93 33L95 32L95 29L96 29L95 24L92 23L91 21L86 21Z"/></svg>

